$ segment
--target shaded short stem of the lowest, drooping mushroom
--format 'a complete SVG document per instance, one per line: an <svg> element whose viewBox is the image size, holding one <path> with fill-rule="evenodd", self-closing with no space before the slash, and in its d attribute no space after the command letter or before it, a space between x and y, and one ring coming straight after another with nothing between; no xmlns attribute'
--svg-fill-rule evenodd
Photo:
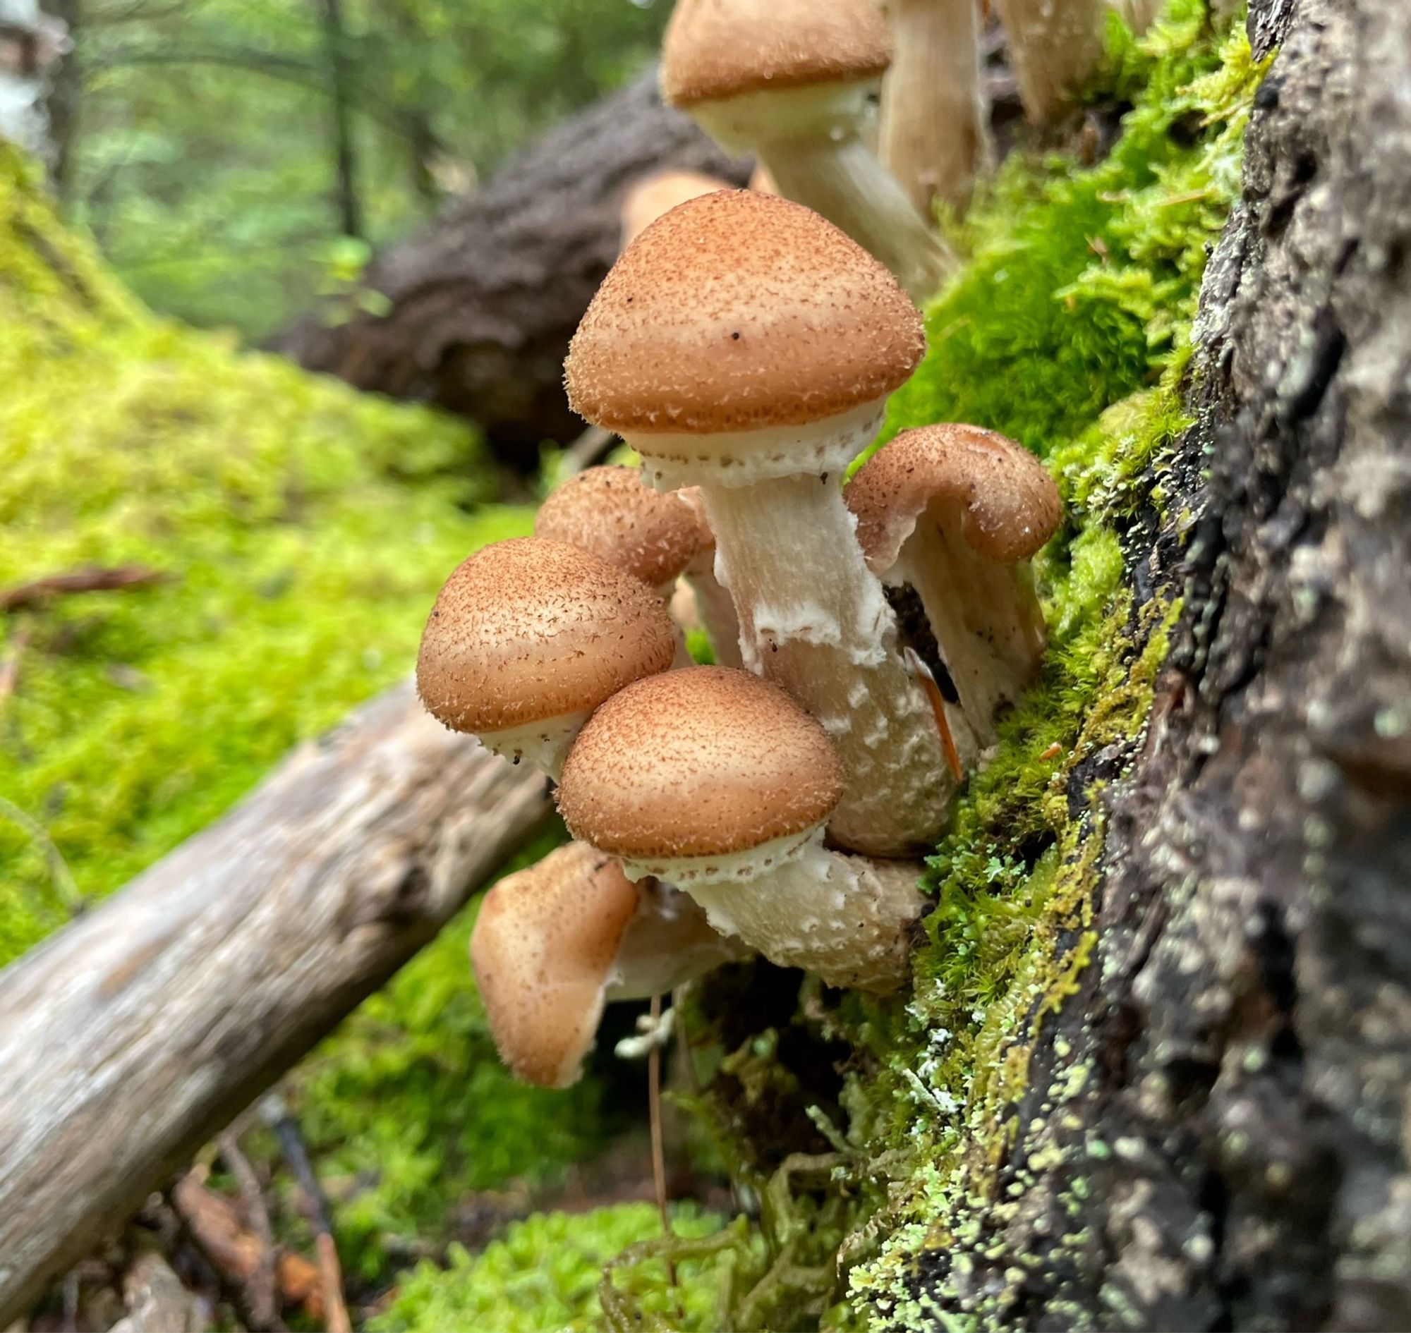
<svg viewBox="0 0 1411 1333"><path fill-rule="evenodd" d="M656 879L638 883L641 899L618 941L607 980L608 1003L649 1000L746 955L745 945L715 931L689 894Z"/></svg>

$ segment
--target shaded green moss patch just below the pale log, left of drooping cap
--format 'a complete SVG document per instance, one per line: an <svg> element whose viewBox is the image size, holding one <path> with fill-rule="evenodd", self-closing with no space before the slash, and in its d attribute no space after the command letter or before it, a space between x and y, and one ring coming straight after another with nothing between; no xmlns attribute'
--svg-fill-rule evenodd
<svg viewBox="0 0 1411 1333"><path fill-rule="evenodd" d="M549 851L529 848L521 865ZM368 999L295 1076L299 1121L339 1200L344 1265L378 1284L388 1255L435 1253L456 1205L553 1186L610 1124L591 1079L549 1092L509 1078L467 963L480 900Z"/></svg>

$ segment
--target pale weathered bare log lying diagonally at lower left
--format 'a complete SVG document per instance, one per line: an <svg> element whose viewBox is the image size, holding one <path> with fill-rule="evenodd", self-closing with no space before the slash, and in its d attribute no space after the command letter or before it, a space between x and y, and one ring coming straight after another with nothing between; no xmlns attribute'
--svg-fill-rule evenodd
<svg viewBox="0 0 1411 1333"><path fill-rule="evenodd" d="M0 972L0 1327L547 812L542 777L443 731L399 686Z"/></svg>

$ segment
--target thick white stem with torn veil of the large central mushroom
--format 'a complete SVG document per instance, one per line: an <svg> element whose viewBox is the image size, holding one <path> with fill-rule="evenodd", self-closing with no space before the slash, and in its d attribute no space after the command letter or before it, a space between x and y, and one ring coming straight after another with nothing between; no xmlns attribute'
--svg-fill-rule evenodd
<svg viewBox="0 0 1411 1333"><path fill-rule="evenodd" d="M834 839L872 856L907 856L934 846L955 777L838 489L838 475L872 437L879 416L880 406L871 403L772 432L780 443L776 457L799 458L813 443L807 453L820 471L803 475L759 475L772 470L772 450L759 443L763 432L680 442L649 436L641 449L646 473L667 488L676 468L665 456L676 449L696 456L691 480L715 533L715 577L739 615L745 667L783 686L838 748L847 787L830 822ZM700 457L706 450L714 465Z"/></svg>

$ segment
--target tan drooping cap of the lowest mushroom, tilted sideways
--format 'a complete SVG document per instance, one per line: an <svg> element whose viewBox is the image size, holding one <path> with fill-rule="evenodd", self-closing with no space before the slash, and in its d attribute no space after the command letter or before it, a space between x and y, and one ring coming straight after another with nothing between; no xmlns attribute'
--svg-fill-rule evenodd
<svg viewBox="0 0 1411 1333"><path fill-rule="evenodd" d="M581 842L485 894L470 965L495 1049L519 1078L542 1088L577 1081L636 904L622 866Z"/></svg>

